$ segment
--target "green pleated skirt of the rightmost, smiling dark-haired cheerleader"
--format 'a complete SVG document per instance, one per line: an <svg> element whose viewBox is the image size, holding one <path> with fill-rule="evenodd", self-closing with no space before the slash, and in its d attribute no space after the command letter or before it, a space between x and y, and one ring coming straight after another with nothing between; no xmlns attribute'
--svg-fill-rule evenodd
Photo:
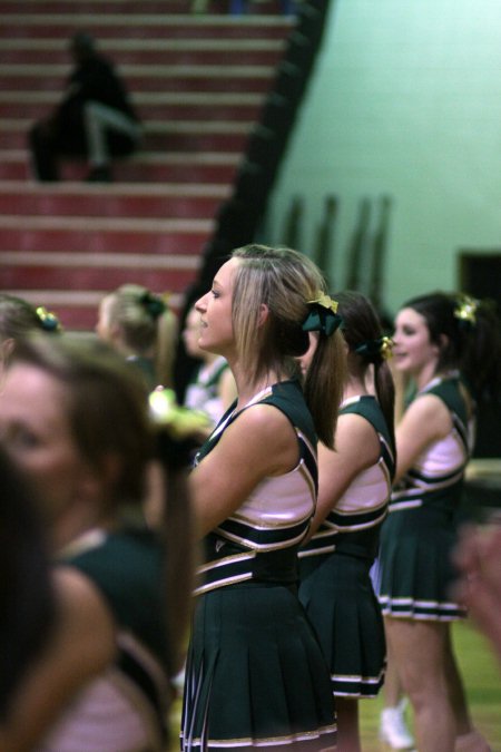
<svg viewBox="0 0 501 752"><path fill-rule="evenodd" d="M464 618L464 608L451 598L455 543L450 512L428 506L391 512L381 533L383 614L440 622Z"/></svg>

